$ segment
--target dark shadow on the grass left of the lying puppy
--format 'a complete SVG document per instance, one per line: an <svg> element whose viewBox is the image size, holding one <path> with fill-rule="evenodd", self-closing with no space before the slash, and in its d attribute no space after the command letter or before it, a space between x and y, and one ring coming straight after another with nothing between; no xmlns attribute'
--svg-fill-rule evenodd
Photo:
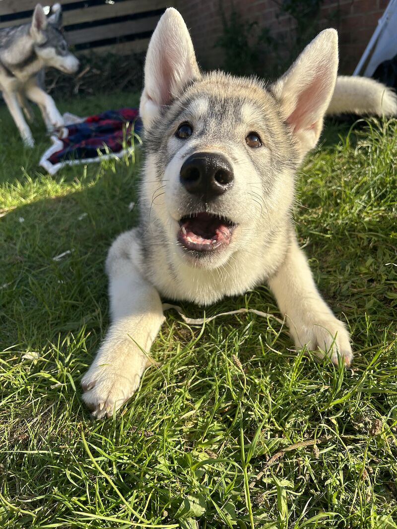
<svg viewBox="0 0 397 529"><path fill-rule="evenodd" d="M123 187L127 171L122 172L121 178L106 174L82 190L65 189L65 196L20 205L2 218L6 346L25 343L40 348L46 339L75 331L83 323L99 331L103 306L97 300L105 298L107 249L137 220L137 209L128 208L134 191L132 186ZM134 168L130 179L136 180ZM53 185L44 177L40 184L46 183ZM92 307L88 313L87 307Z"/></svg>

